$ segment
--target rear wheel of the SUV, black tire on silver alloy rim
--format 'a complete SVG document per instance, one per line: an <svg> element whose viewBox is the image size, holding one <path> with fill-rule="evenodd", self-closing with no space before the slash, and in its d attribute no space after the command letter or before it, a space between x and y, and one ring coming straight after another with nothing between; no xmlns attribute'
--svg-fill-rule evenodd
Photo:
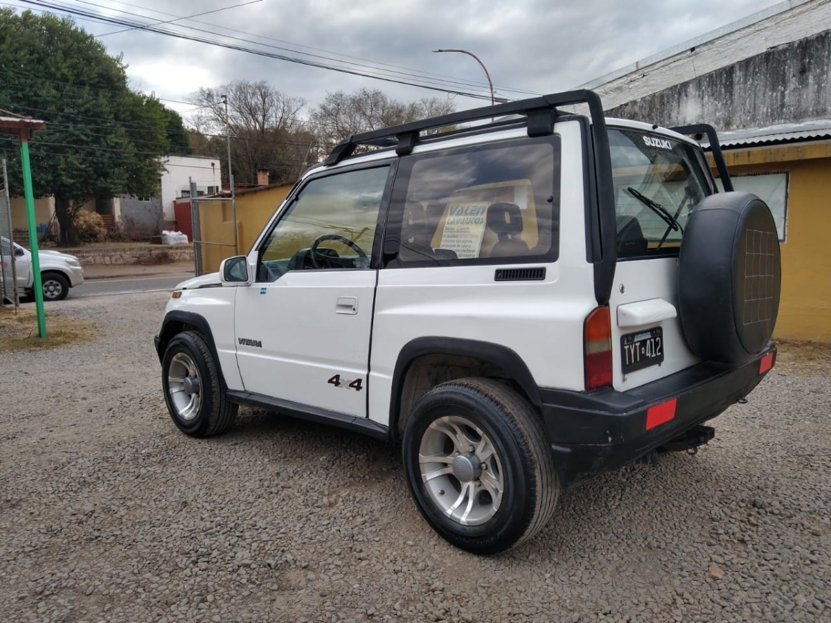
<svg viewBox="0 0 831 623"><path fill-rule="evenodd" d="M551 517L559 485L539 415L489 379L437 385L406 424L403 459L420 513L468 552L503 552Z"/></svg>

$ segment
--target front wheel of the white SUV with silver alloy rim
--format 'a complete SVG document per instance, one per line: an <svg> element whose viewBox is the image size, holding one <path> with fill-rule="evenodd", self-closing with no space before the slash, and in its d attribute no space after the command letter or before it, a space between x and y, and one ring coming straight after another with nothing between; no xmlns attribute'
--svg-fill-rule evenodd
<svg viewBox="0 0 831 623"><path fill-rule="evenodd" d="M184 434L210 437L234 424L238 405L228 400L208 344L196 331L170 340L161 363L170 417Z"/></svg>

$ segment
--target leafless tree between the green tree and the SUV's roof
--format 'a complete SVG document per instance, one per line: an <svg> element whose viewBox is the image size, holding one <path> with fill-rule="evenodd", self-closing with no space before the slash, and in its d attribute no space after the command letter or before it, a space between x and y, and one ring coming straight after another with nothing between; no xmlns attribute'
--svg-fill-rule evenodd
<svg viewBox="0 0 831 623"><path fill-rule="evenodd" d="M274 89L264 81L233 81L215 89L201 88L190 101L202 107L194 116L204 135L225 134L225 105L231 133L231 163L234 178L256 184L258 170L268 170L272 182L288 182L314 162L316 136L309 132L299 113L305 101ZM214 137L215 138L215 137ZM215 150L219 142L204 142ZM219 151L224 159L224 151ZM227 164L223 166L223 172Z"/></svg>

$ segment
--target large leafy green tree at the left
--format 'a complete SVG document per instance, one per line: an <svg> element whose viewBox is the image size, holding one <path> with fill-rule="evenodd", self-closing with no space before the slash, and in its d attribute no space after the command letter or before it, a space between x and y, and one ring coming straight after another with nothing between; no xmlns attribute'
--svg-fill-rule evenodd
<svg viewBox="0 0 831 623"><path fill-rule="evenodd" d="M159 156L189 153L182 120L127 86L126 66L68 18L0 9L0 108L47 122L30 144L35 195L54 195L61 243L81 205L158 193ZM22 194L17 139L0 138Z"/></svg>

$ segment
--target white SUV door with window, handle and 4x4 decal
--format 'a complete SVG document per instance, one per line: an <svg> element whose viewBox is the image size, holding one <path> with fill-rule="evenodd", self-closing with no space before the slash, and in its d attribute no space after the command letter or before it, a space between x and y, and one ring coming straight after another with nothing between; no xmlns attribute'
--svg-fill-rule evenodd
<svg viewBox="0 0 831 623"><path fill-rule="evenodd" d="M309 180L262 238L234 328L245 390L366 417L376 231L389 165Z"/></svg>

